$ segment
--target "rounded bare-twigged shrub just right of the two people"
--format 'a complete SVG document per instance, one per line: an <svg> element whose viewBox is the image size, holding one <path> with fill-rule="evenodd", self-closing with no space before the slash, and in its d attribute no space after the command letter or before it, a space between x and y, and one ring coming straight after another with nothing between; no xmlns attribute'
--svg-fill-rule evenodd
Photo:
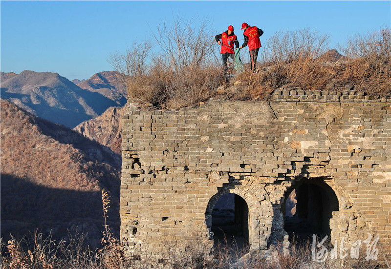
<svg viewBox="0 0 391 269"><path fill-rule="evenodd" d="M263 49L263 64L254 76L268 88L293 83L308 89L319 89L330 79L328 67L319 57L326 52L329 41L308 28L276 32Z"/></svg>

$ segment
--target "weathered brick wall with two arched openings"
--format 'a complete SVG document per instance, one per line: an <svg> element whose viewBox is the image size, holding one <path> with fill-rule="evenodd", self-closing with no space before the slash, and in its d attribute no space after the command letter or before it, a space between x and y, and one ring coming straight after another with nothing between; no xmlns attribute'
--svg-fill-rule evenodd
<svg viewBox="0 0 391 269"><path fill-rule="evenodd" d="M225 193L248 205L251 250L287 246L286 196L309 183L324 190L319 214L332 240L371 233L391 253L389 99L275 90L271 102L129 106L123 119L121 240L130 249L158 253L167 242L197 238L212 247L212 210Z"/></svg>

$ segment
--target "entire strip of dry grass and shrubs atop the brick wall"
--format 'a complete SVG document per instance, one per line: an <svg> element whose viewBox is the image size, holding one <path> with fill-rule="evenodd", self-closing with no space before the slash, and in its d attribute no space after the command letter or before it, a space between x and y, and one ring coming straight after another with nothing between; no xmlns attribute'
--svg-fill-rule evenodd
<svg viewBox="0 0 391 269"><path fill-rule="evenodd" d="M389 28L350 38L341 48L347 57L338 62L327 62L327 57L321 57L327 51L327 35L310 29L280 31L261 48L257 73L246 70L227 82L219 59L214 55L214 41L206 41L211 40L205 31L207 24L201 23L199 29L192 29L191 23L176 20L179 23L174 22L174 26L163 23L159 28L155 40L164 54L151 57L149 63L140 61L143 56L152 55L152 47L146 44L134 46L131 53L122 58L119 54L112 58L113 66L127 74L130 98L157 108L176 109L211 97L267 100L274 89L283 85L306 90L344 90L354 86L355 90L367 94L387 96L391 93ZM181 34L184 32L191 35ZM194 40L197 42L192 42ZM189 46L194 43L201 46Z"/></svg>

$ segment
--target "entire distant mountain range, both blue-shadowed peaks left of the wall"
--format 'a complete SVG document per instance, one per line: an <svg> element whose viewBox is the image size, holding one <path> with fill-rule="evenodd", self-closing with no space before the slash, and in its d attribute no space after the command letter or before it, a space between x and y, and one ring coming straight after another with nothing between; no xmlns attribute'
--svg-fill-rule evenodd
<svg viewBox="0 0 391 269"><path fill-rule="evenodd" d="M111 106L126 103L126 91L119 79L116 71L101 72L79 81L80 87L57 73L1 72L1 98L43 119L73 128Z"/></svg>

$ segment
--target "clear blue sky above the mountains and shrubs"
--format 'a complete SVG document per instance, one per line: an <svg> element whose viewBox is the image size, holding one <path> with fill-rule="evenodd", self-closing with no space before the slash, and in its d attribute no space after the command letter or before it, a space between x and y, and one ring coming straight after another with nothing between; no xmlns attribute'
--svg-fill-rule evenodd
<svg viewBox="0 0 391 269"><path fill-rule="evenodd" d="M331 36L330 48L391 23L391 1L1 1L0 8L1 71L68 79L112 70L110 53L151 37L173 13L209 18L216 34L232 24L239 39L245 21L264 31L261 42L310 27Z"/></svg>

